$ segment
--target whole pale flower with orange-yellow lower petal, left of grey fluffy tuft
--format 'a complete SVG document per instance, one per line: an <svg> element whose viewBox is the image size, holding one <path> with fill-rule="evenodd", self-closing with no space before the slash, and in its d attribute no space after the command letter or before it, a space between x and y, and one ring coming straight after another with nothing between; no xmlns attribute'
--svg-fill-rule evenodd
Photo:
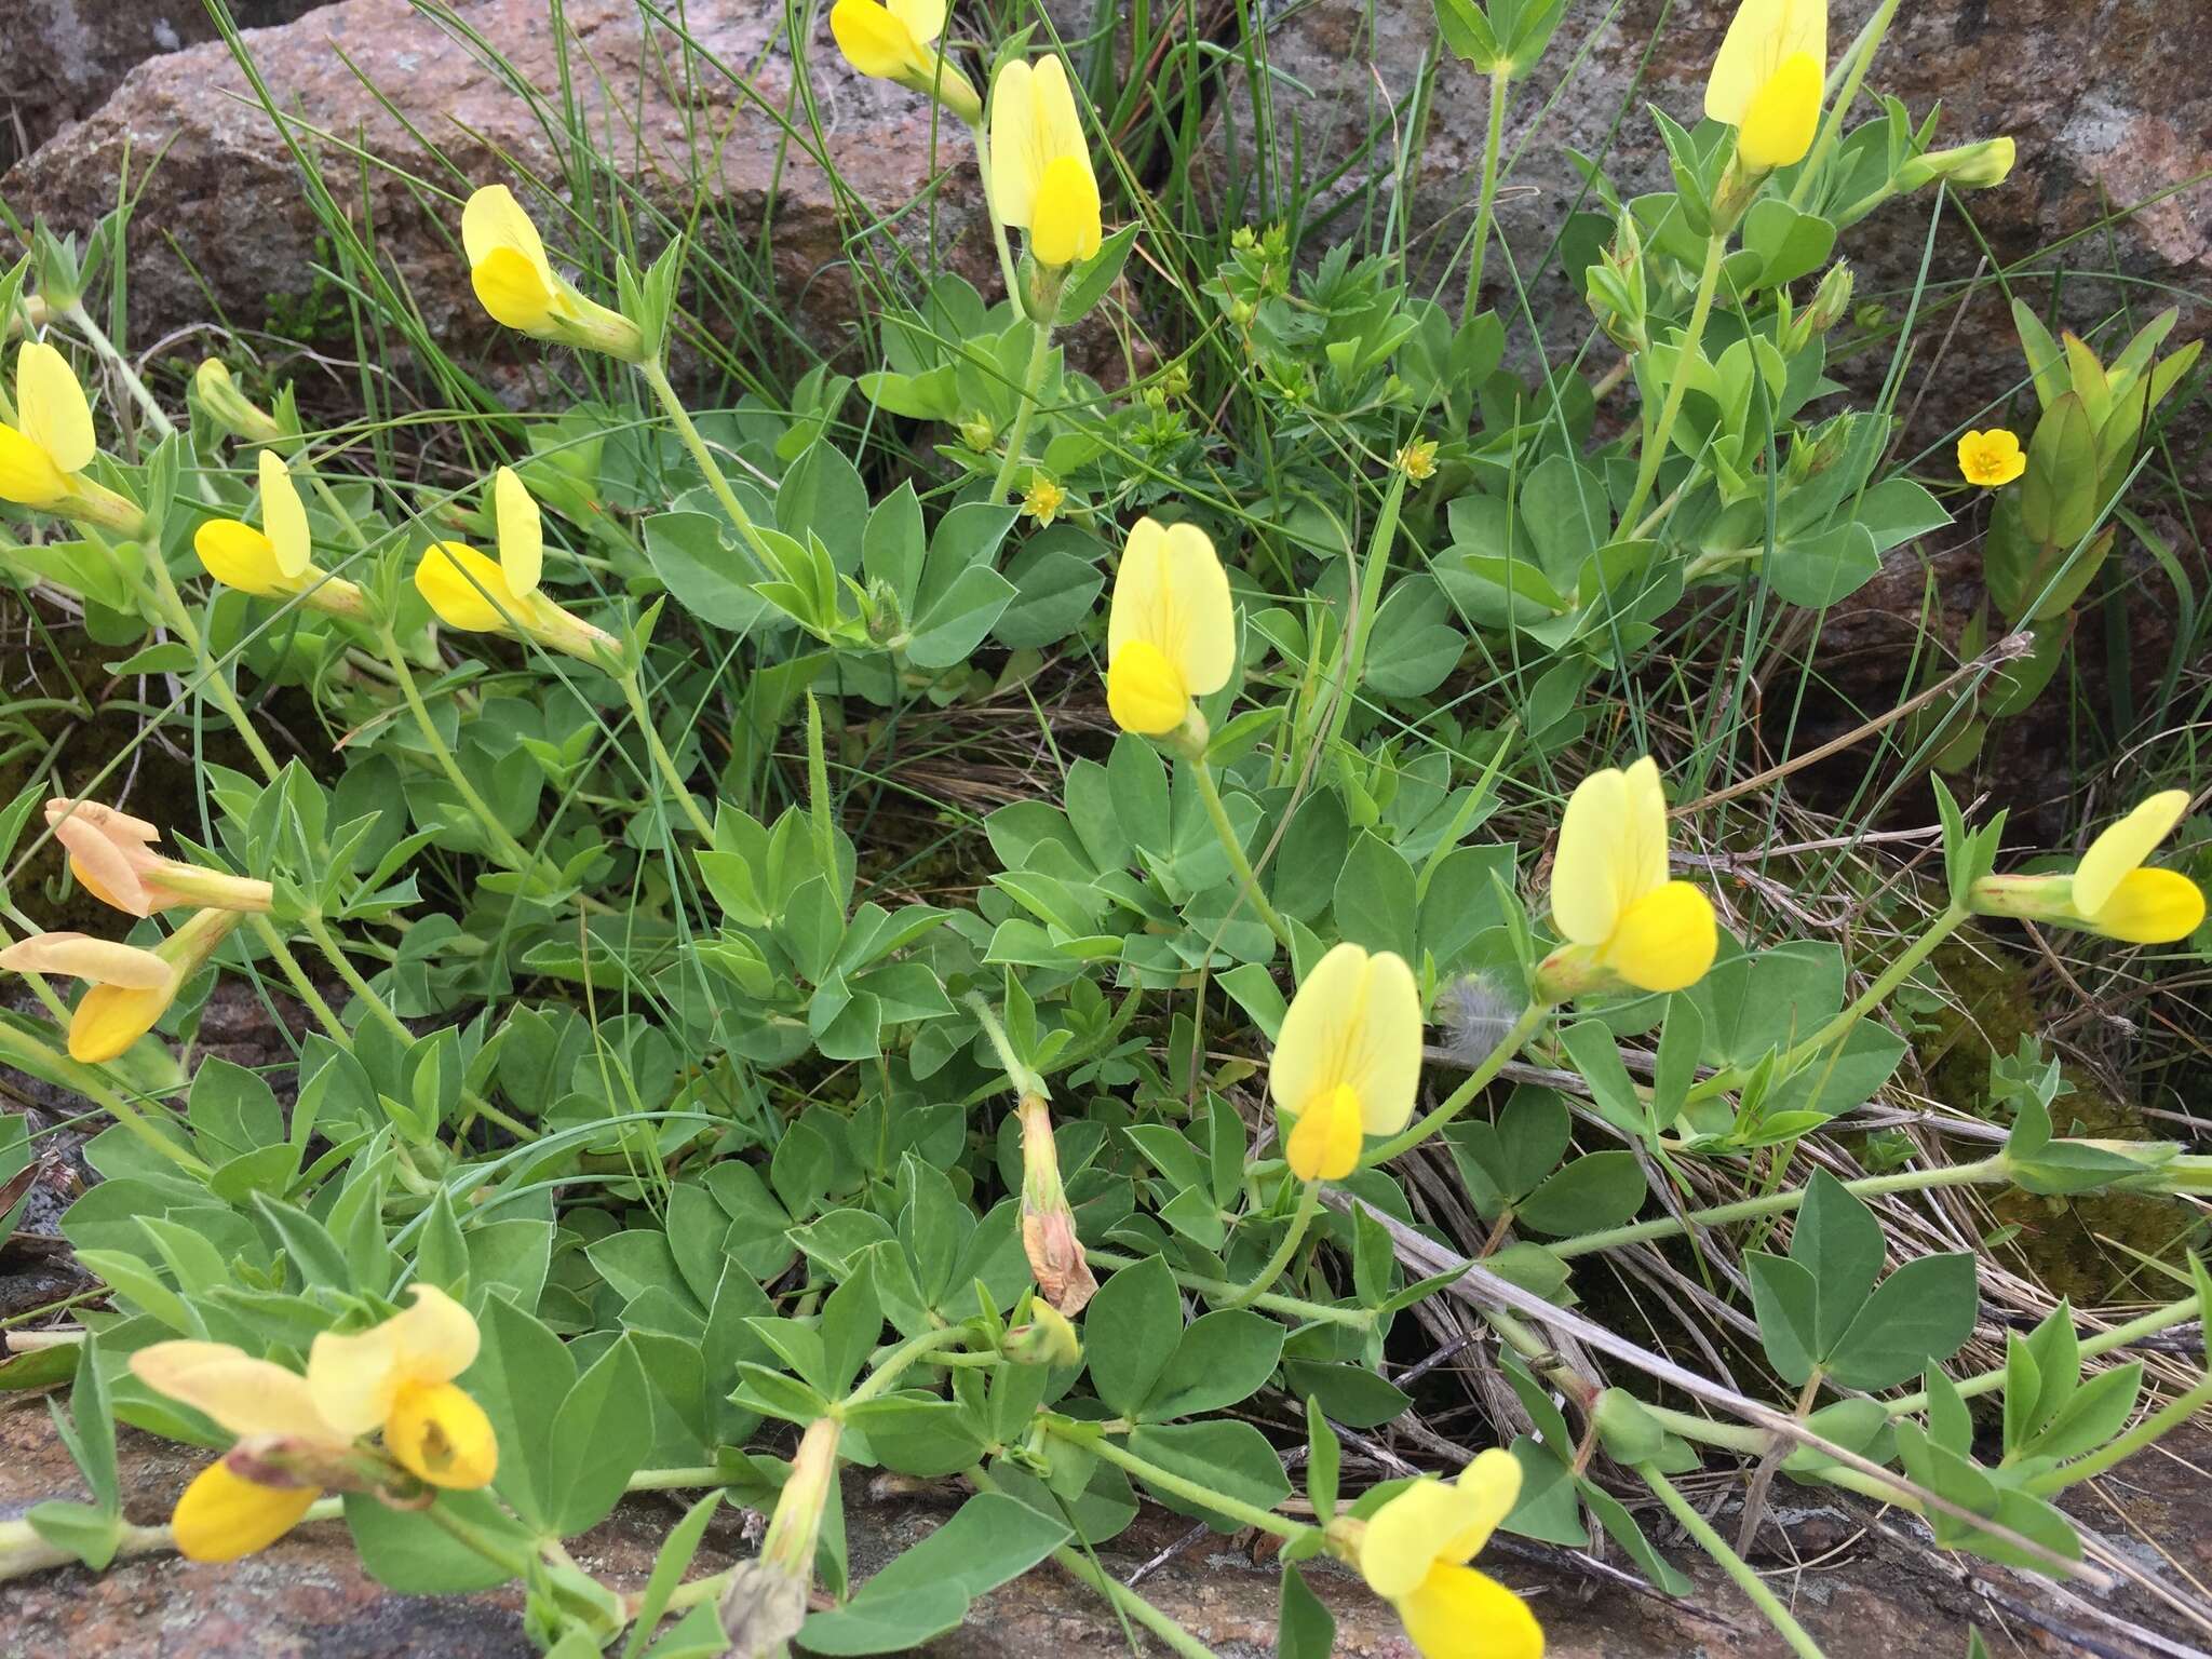
<svg viewBox="0 0 2212 1659"><path fill-rule="evenodd" d="M1363 1135L1396 1135L1420 1088L1420 991L1391 951L1338 945L1290 1000L1267 1064L1283 1157L1301 1181L1340 1181Z"/></svg>

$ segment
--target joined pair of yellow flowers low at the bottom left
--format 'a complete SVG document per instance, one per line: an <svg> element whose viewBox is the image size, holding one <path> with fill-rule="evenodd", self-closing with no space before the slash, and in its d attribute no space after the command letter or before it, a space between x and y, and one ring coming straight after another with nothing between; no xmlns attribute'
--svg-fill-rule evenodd
<svg viewBox="0 0 2212 1659"><path fill-rule="evenodd" d="M239 1438L177 1500L179 1553L195 1562L250 1555L283 1537L325 1484L372 1484L374 1464L361 1464L356 1440L376 1429L418 1480L491 1484L491 1420L453 1387L476 1360L476 1321L431 1285L416 1285L414 1296L358 1336L316 1336L307 1376L226 1343L155 1343L131 1356L142 1383Z"/></svg>

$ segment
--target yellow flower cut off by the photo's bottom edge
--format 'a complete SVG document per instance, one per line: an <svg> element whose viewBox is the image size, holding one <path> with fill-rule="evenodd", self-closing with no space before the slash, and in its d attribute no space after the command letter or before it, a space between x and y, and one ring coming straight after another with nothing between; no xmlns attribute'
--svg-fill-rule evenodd
<svg viewBox="0 0 2212 1659"><path fill-rule="evenodd" d="M1520 1464L1491 1447L1455 1482L1416 1480L1360 1533L1360 1577L1425 1659L1542 1659L1528 1604L1469 1566L1517 1498Z"/></svg>

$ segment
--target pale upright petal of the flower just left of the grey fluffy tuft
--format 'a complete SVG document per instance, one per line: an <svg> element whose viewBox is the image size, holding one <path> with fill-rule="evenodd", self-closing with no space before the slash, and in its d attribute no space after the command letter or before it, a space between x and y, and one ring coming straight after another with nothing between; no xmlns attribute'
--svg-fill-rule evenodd
<svg viewBox="0 0 2212 1659"><path fill-rule="evenodd" d="M1267 1093L1283 1117L1349 1086L1367 1135L1396 1135L1420 1091L1420 989L1391 951L1338 945L1290 1000L1267 1062Z"/></svg>

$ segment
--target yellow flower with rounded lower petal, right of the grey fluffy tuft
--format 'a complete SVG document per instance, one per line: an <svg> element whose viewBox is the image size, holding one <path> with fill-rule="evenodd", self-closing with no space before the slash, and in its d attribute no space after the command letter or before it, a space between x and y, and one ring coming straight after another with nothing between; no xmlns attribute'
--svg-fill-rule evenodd
<svg viewBox="0 0 2212 1659"><path fill-rule="evenodd" d="M1681 991L1705 978L1719 945L1712 900L1668 880L1666 794L1648 754L1575 785L1551 867L1551 916L1568 940L1540 971L1553 1000L1624 984Z"/></svg>

